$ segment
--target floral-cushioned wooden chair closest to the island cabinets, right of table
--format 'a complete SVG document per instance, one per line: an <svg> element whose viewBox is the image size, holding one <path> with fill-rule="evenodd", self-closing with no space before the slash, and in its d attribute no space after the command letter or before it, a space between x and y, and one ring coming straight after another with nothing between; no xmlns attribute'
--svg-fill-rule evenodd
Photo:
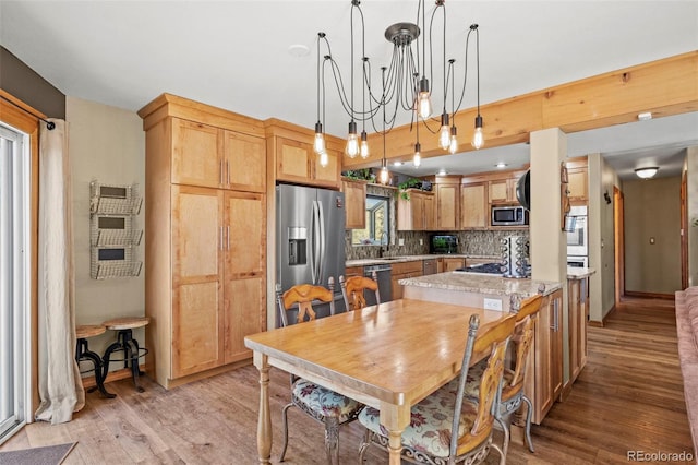
<svg viewBox="0 0 698 465"><path fill-rule="evenodd" d="M524 394L524 379L526 377L529 351L531 344L533 343L538 311L541 308L543 297L541 295L537 295L522 300L520 303L517 302L516 298L513 298L512 301L512 310L516 311L516 325L514 327L514 335L512 336L512 346L514 347L514 366L512 368L505 368L504 370L502 395L500 396L500 405L496 410L496 420L502 427L502 431L504 433L502 451L504 452L505 458L509 449L510 436L508 427L509 421L505 422L505 418L508 420L508 417L519 409L522 402L526 402L528 406L526 414L526 442L529 451L534 452L533 442L531 440L531 413L533 412L533 405L526 394ZM480 377L484 369L484 363L480 362L470 370L470 373L468 374L468 382L466 383L467 397L478 397L480 390Z"/></svg>

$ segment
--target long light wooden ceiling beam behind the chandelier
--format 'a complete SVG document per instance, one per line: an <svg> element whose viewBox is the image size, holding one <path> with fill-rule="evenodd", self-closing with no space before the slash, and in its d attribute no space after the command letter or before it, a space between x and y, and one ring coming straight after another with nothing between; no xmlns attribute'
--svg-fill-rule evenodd
<svg viewBox="0 0 698 465"><path fill-rule="evenodd" d="M640 112L652 118L698 111L698 50L561 84L480 107L485 147L528 142L532 131L559 128L566 133L637 121ZM470 145L476 108L458 111L458 152ZM440 118L430 122L438 128ZM386 158L408 160L414 153L416 134L409 124L386 135ZM422 158L443 156L436 134L420 131ZM383 139L369 135L368 159L342 159L342 168L376 166L383 157Z"/></svg>

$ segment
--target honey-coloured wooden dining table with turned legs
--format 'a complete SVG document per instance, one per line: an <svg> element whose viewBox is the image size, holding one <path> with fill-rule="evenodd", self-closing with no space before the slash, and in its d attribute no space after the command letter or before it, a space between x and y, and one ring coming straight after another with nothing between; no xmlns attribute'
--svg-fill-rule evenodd
<svg viewBox="0 0 698 465"><path fill-rule="evenodd" d="M460 372L470 315L508 313L399 299L246 336L260 370L257 451L270 463L269 368L276 367L381 410L389 463L400 463L410 407Z"/></svg>

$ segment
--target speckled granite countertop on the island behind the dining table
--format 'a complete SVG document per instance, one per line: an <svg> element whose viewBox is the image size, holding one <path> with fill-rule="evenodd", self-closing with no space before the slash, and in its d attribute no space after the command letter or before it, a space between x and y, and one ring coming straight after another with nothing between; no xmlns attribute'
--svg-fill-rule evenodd
<svg viewBox="0 0 698 465"><path fill-rule="evenodd" d="M562 288L561 283L549 281L517 279L502 276L488 276L472 273L447 272L428 276L409 277L398 281L404 286L421 286L432 289L447 289L462 293L493 294L506 296L518 294L524 298L532 297L542 289L543 295Z"/></svg>

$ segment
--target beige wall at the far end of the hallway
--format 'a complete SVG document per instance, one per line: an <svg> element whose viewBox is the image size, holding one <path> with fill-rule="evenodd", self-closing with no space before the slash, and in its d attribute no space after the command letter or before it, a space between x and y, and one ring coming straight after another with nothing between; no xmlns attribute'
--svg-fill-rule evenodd
<svg viewBox="0 0 698 465"><path fill-rule="evenodd" d="M681 289L681 177L625 181L623 193L625 290L674 294Z"/></svg>

